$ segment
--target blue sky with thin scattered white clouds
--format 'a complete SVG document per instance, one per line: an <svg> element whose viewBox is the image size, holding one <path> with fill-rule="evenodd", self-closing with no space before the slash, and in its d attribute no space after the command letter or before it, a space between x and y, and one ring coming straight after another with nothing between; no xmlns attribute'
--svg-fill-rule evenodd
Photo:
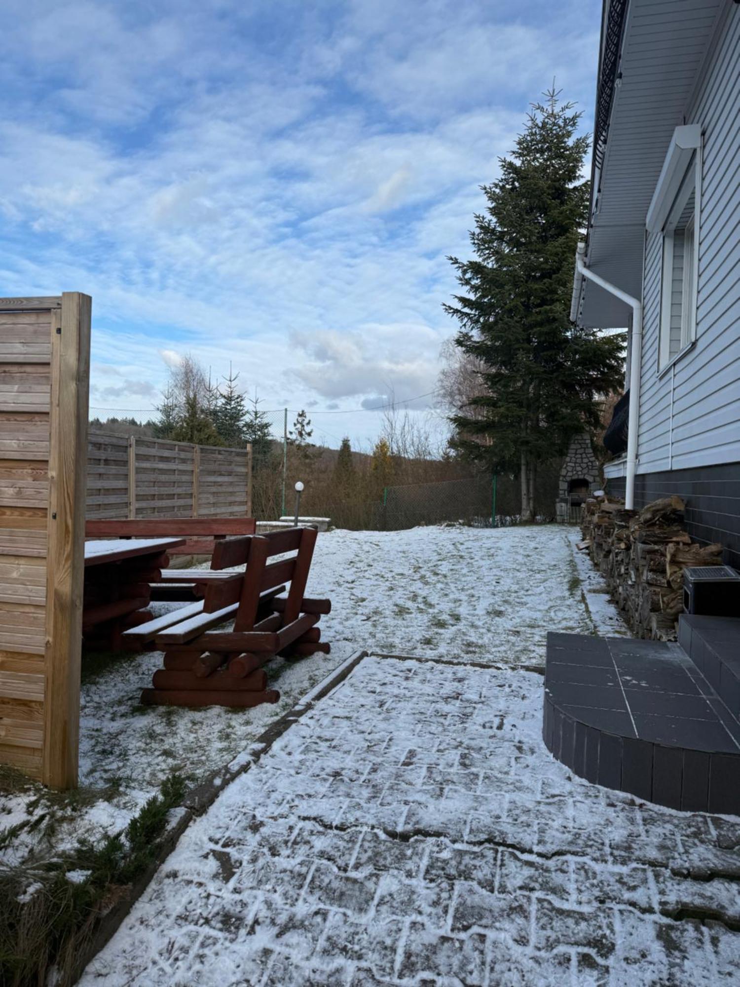
<svg viewBox="0 0 740 987"><path fill-rule="evenodd" d="M446 256L529 103L555 76L591 129L600 13L4 0L0 294L93 296L92 415L146 417L191 352L366 443L353 410L435 387Z"/></svg>

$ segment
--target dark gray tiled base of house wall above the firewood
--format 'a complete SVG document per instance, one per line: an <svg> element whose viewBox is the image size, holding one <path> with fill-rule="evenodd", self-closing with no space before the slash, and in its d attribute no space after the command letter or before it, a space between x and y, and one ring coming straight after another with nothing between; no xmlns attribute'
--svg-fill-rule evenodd
<svg viewBox="0 0 740 987"><path fill-rule="evenodd" d="M624 496L625 478L609 480L607 491ZM686 527L692 538L705 544L720 542L724 561L740 569L740 463L637 474L634 505L644 507L674 493L686 501Z"/></svg>

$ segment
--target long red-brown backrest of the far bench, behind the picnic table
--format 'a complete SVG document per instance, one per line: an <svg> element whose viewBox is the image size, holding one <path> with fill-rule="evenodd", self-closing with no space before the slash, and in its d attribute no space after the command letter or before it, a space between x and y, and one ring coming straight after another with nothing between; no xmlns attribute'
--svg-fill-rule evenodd
<svg viewBox="0 0 740 987"><path fill-rule="evenodd" d="M254 535L254 517L146 517L91 519L85 524L87 538L185 537L185 545L170 555L211 555L218 543L231 535Z"/></svg>

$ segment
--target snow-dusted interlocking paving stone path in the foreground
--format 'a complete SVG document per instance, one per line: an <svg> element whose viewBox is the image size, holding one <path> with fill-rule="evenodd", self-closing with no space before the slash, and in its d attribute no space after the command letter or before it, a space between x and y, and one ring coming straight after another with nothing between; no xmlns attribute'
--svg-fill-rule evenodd
<svg viewBox="0 0 740 987"><path fill-rule="evenodd" d="M181 839L91 985L740 982L740 819L569 775L542 678L364 659Z"/></svg>

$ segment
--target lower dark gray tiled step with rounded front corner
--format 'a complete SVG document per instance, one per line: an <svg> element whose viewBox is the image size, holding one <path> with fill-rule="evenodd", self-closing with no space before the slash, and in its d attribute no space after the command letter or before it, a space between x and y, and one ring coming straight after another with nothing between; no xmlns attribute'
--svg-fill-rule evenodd
<svg viewBox="0 0 740 987"><path fill-rule="evenodd" d="M740 813L740 722L680 645L548 635L543 735L589 781Z"/></svg>

